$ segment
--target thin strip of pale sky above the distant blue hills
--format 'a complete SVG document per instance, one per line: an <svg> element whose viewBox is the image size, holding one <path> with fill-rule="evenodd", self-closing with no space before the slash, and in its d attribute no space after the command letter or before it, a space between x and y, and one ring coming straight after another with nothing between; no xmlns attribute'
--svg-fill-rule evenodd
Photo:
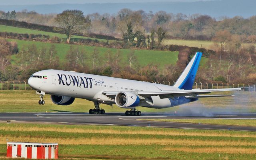
<svg viewBox="0 0 256 160"><path fill-rule="evenodd" d="M196 2L209 0L0 0L1 5L28 5L28 4L85 4L85 3L120 3L120 2Z"/></svg>

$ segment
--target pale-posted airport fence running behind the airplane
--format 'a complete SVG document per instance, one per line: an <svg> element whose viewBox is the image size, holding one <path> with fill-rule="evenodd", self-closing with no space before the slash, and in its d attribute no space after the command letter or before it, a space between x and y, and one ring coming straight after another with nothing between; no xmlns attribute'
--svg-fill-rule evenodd
<svg viewBox="0 0 256 160"><path fill-rule="evenodd" d="M148 82L148 81L146 81ZM175 82L153 82L156 84L165 84L165 85L173 85ZM193 85L193 89L218 89L218 88L242 88L243 91L255 92L255 85L250 84L228 84L228 83L207 83L207 82L195 82ZM1 90L32 90L32 88L28 85L27 81L0 81L0 91Z"/></svg>

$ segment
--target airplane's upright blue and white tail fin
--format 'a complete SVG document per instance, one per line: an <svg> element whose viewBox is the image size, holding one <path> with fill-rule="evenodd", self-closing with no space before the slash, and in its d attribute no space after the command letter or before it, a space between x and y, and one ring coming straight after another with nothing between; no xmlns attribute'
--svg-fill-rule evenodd
<svg viewBox="0 0 256 160"><path fill-rule="evenodd" d="M182 72L174 87L191 90L196 78L196 72L202 57L202 52L196 52L192 60L188 63L185 70Z"/></svg>

